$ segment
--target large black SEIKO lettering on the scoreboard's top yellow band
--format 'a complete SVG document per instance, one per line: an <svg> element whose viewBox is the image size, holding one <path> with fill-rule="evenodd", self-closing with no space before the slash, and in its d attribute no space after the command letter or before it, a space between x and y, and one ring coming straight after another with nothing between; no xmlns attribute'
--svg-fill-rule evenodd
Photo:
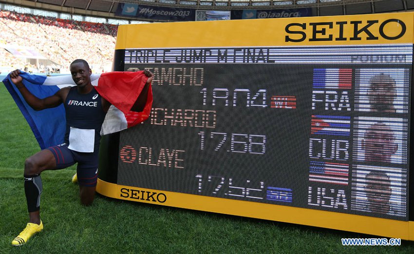
<svg viewBox="0 0 414 254"><path fill-rule="evenodd" d="M379 27L373 28L373 25L379 23L379 20L362 21L337 21L337 22L315 22L315 23L290 23L284 28L285 32L290 34L285 37L285 41L301 42L307 39L307 26L312 27L311 37L308 41L333 41L333 40L376 40L379 36L383 39L395 40L404 36L407 27L402 20L390 19L379 24ZM386 25L395 25L396 29L384 29ZM350 37L345 37L344 28L351 26L352 33ZM330 32L330 30L332 32ZM392 31L392 35L390 34ZM387 34L388 33L388 34ZM293 36L292 36L293 35Z"/></svg>

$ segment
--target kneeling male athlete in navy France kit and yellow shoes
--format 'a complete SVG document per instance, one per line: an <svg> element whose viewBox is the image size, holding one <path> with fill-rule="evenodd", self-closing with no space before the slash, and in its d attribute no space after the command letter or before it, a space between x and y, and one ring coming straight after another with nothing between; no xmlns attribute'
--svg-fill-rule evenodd
<svg viewBox="0 0 414 254"><path fill-rule="evenodd" d="M24 162L24 192L29 211L29 223L12 241L14 246L25 244L30 237L43 229L39 213L42 192L41 172L67 168L77 162L76 173L80 200L84 205L90 205L94 200L100 130L111 103L96 92L91 83L92 71L85 60L73 61L70 71L76 86L62 88L55 95L43 99L35 97L27 90L22 83L19 70L10 73L12 82L33 109L53 108L64 103L66 111L64 143L44 149L28 157ZM138 112L144 109L153 78L153 74L148 70L145 70L144 74L149 78L134 105L133 110ZM68 103L71 100L85 101L85 103Z"/></svg>

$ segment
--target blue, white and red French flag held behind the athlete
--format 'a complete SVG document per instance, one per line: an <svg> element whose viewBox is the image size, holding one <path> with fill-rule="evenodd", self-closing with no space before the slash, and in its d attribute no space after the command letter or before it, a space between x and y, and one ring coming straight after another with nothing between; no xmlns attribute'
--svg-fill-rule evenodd
<svg viewBox="0 0 414 254"><path fill-rule="evenodd" d="M21 71L20 76L26 88L38 98L46 98L56 94L62 87L75 85L71 75L46 77ZM144 110L142 112L131 111L147 79L143 71L109 72L91 76L96 91L112 103L102 125L101 135L130 128L149 117L152 106L151 84ZM63 104L55 108L35 111L21 96L9 75L3 79L3 83L29 123L40 148L45 149L63 143L66 130Z"/></svg>

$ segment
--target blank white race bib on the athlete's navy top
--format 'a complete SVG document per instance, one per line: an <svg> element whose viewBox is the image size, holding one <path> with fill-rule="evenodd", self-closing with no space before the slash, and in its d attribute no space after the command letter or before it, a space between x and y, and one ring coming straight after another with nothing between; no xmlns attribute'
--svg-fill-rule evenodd
<svg viewBox="0 0 414 254"><path fill-rule="evenodd" d="M81 153L93 153L95 145L95 130L71 127L69 132L70 150Z"/></svg>

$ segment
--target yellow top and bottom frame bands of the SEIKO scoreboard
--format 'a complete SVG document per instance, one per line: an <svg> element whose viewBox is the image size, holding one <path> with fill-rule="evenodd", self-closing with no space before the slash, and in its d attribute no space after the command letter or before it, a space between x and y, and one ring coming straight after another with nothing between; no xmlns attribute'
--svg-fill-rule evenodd
<svg viewBox="0 0 414 254"><path fill-rule="evenodd" d="M393 13L120 25L115 50L413 44L413 23L414 13ZM142 189L110 183L100 178L97 192L130 201L414 240L414 221ZM140 193L145 192L156 193L156 201L140 198Z"/></svg>

